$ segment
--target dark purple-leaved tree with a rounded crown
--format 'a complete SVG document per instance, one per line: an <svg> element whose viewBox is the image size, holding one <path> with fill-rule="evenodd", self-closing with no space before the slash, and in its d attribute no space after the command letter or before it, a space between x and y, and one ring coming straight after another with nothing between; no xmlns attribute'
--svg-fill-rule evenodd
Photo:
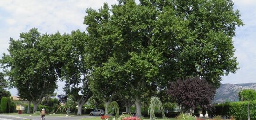
<svg viewBox="0 0 256 120"><path fill-rule="evenodd" d="M168 90L171 97L185 108L183 112L197 106L209 108L215 92L216 88L212 84L199 77L171 82Z"/></svg>

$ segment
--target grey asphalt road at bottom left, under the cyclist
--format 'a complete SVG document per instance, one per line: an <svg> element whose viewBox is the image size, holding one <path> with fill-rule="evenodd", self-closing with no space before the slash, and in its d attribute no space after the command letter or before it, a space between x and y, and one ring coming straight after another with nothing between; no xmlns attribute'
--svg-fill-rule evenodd
<svg viewBox="0 0 256 120"><path fill-rule="evenodd" d="M72 117L58 117L58 116L46 116L45 120L81 120L82 118L89 118L92 116L72 116ZM97 116L99 117L99 116ZM16 116L16 115L0 115L0 120L41 120L40 116Z"/></svg>

